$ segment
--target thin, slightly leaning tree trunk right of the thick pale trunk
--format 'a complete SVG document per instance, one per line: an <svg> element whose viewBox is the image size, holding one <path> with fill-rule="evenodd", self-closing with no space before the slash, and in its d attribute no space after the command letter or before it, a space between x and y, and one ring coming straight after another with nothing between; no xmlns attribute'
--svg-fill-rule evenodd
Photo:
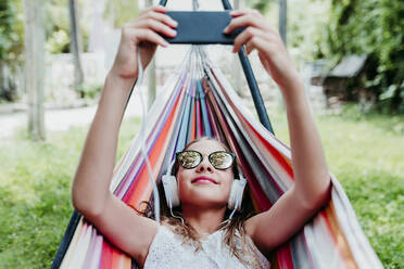
<svg viewBox="0 0 404 269"><path fill-rule="evenodd" d="M71 53L73 55L74 63L74 88L80 92L80 98L84 98L83 82L84 73L81 66L81 38L80 27L77 17L77 4L76 0L68 0L68 8L71 14Z"/></svg>

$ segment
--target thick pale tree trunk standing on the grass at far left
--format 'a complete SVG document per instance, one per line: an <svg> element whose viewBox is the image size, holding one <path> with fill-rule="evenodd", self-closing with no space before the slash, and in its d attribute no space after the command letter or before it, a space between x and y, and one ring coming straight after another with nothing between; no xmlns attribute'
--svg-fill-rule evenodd
<svg viewBox="0 0 404 269"><path fill-rule="evenodd" d="M45 28L41 0L24 0L24 15L25 87L28 93L28 133L34 140L45 140Z"/></svg>

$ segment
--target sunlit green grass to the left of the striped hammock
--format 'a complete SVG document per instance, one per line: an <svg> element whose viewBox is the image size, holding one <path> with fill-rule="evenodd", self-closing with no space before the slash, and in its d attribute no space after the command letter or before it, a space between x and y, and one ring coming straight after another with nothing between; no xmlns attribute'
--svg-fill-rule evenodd
<svg viewBox="0 0 404 269"><path fill-rule="evenodd" d="M138 129L138 119L123 124L118 156ZM49 268L73 212L87 128L49 132L47 142L22 133L0 142L0 268Z"/></svg>

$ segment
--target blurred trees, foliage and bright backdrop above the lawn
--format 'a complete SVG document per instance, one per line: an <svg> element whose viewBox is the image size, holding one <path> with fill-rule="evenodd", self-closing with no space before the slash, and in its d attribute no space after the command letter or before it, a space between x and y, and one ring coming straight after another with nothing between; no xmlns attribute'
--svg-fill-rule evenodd
<svg viewBox="0 0 404 269"><path fill-rule="evenodd" d="M45 138L47 110L93 104L112 65L119 27L151 4L156 1L2 0L0 112L31 111L24 125ZM315 110L339 113L344 104L357 103L365 113L404 112L401 1L237 0L233 5L260 10L279 29ZM191 10L192 1L172 1L168 8ZM200 10L222 9L218 0L200 3ZM148 72L150 103L185 51L180 46L159 50ZM237 57L214 55L239 93L248 95ZM265 101L277 103L276 86L256 55L251 61ZM1 133L17 125L8 123Z"/></svg>

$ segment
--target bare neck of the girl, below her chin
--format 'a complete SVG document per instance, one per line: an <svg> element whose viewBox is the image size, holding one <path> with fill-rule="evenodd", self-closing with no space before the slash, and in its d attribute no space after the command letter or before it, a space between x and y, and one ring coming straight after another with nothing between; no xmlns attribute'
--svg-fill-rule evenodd
<svg viewBox="0 0 404 269"><path fill-rule="evenodd" d="M217 231L223 222L226 207L195 208L195 206L182 205L184 219L201 235Z"/></svg>

